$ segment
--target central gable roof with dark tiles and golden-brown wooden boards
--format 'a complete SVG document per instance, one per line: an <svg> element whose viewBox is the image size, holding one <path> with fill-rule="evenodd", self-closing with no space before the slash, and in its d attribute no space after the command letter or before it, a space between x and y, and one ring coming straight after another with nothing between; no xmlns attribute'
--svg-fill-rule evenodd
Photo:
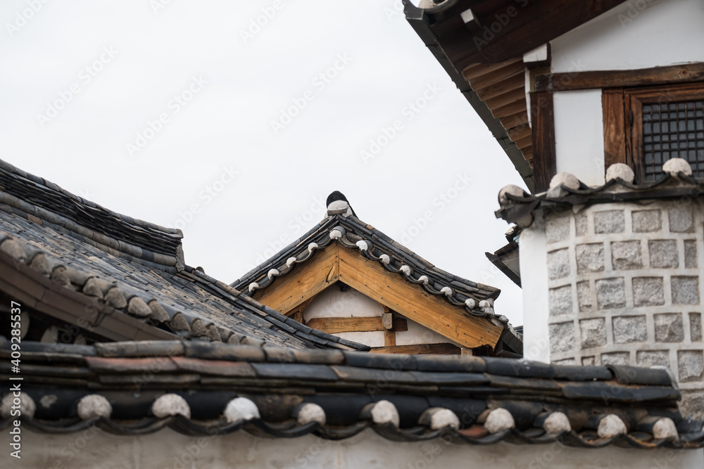
<svg viewBox="0 0 704 469"><path fill-rule="evenodd" d="M346 208L328 210L318 226L231 285L287 314L337 281L465 347L494 347L510 332L491 307L501 290L439 269Z"/></svg>

